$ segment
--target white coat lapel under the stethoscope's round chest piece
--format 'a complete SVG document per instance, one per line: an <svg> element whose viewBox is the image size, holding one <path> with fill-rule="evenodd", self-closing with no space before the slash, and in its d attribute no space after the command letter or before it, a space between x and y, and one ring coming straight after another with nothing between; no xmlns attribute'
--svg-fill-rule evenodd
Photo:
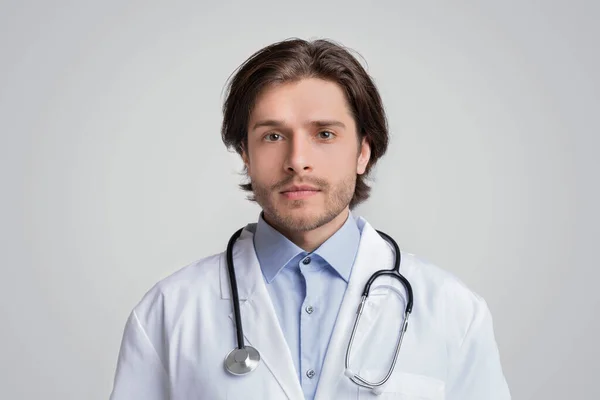
<svg viewBox="0 0 600 400"><path fill-rule="evenodd" d="M289 346L265 285L252 234L244 231L233 248L246 344L256 348L268 370L289 399L304 399ZM225 257L221 258L221 294L231 301ZM245 300L245 301L243 301ZM233 311L230 314L235 328Z"/></svg>

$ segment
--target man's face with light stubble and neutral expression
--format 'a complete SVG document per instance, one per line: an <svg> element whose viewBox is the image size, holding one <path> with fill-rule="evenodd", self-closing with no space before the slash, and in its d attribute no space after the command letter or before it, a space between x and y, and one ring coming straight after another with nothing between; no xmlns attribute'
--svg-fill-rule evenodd
<svg viewBox="0 0 600 400"><path fill-rule="evenodd" d="M369 157L341 87L316 78L259 96L242 154L265 219L292 232L319 228L345 211Z"/></svg>

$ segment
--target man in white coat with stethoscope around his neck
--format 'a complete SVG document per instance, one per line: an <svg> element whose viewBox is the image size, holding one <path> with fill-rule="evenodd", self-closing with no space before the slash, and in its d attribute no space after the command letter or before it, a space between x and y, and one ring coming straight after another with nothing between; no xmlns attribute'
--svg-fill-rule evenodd
<svg viewBox="0 0 600 400"><path fill-rule="evenodd" d="M228 89L223 141L262 208L232 255L243 340L260 361L245 375L227 371L234 294L225 253L213 255L135 307L111 399L510 399L485 301L396 254L351 212L388 143L381 98L356 59L333 42L287 40L246 60ZM408 301L399 281L378 278L347 368L346 352L365 283L395 257L414 309L391 376L371 390L350 378L378 382L390 370Z"/></svg>

